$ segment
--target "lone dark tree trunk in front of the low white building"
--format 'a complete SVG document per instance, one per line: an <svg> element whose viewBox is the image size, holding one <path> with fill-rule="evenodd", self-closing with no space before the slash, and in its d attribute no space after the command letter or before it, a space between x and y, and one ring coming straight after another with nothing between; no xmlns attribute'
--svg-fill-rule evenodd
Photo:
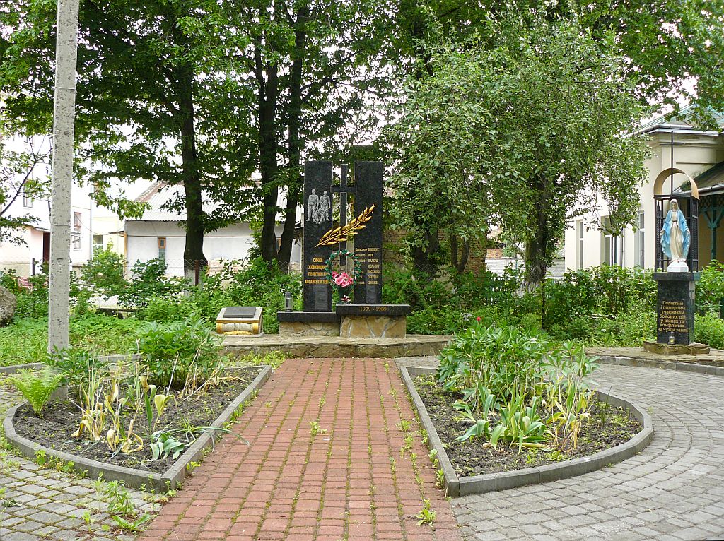
<svg viewBox="0 0 724 541"><path fill-rule="evenodd" d="M203 255L203 194L198 172L196 133L193 112L193 68L185 64L177 69L181 127L181 170L185 190L186 247L183 252L184 274L194 280L195 268L205 268ZM198 263L196 263L198 261Z"/></svg>

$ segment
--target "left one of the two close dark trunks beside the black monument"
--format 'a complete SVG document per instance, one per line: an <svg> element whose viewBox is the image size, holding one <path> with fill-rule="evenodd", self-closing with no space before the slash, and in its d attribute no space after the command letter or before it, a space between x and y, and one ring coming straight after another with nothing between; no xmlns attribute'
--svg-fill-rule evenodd
<svg viewBox="0 0 724 541"><path fill-rule="evenodd" d="M277 92L278 66L261 60L261 41L255 44L256 80L259 112L259 172L264 197L264 223L261 226L261 257L277 260L277 198L279 197L277 162ZM264 72L266 71L266 81Z"/></svg>

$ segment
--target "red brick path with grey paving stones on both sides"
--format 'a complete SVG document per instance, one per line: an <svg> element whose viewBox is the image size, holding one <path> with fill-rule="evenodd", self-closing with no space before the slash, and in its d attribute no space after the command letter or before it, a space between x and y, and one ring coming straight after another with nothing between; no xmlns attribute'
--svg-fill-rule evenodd
<svg viewBox="0 0 724 541"><path fill-rule="evenodd" d="M432 357L397 359L432 366ZM724 537L720 376L602 365L599 387L654 419L638 456L598 472L446 500L390 359L285 362L139 538L156 540L716 540ZM0 408L19 400L0 387ZM312 422L319 432L311 434ZM409 428L408 430L414 430ZM412 458L414 455L414 459ZM93 480L13 453L0 461L0 540L132 540L114 528ZM422 501L434 528L418 526ZM90 524L83 518L90 513ZM104 528L104 525L111 527Z"/></svg>

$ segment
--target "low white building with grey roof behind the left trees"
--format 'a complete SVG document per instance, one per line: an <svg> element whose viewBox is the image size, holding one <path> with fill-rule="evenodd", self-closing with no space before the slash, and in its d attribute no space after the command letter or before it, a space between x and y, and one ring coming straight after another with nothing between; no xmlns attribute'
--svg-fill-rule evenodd
<svg viewBox="0 0 724 541"><path fill-rule="evenodd" d="M182 226L184 219L179 213L163 208L164 203L177 197L182 187L166 187L156 182L137 198L148 203L151 208L138 219L127 219L124 226L125 254L127 268L137 262L162 259L167 263L169 276L184 276L184 250L186 231ZM283 205L284 203L280 203ZM204 203L203 209L209 212L214 205ZM277 226L277 238L282 235L282 226ZM230 226L211 231L203 236L203 255L209 260L211 270L221 260L245 260L255 241L249 223L233 223ZM292 247L291 264L300 264L301 244L295 241Z"/></svg>

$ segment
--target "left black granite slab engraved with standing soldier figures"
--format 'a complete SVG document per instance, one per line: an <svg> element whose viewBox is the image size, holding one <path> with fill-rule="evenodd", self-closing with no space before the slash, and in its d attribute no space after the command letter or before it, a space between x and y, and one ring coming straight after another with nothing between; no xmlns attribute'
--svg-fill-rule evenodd
<svg viewBox="0 0 724 541"><path fill-rule="evenodd" d="M332 229L332 162L308 161L304 165L304 260L305 312L331 312L332 286L324 263L335 246L317 246Z"/></svg>

